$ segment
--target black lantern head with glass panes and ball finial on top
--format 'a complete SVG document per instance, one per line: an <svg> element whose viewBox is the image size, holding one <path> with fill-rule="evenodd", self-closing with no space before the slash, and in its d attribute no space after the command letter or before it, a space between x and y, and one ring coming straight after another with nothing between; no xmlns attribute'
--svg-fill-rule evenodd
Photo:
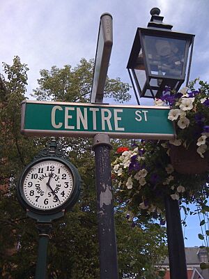
<svg viewBox="0 0 209 279"><path fill-rule="evenodd" d="M171 31L172 25L162 23L159 8L152 8L150 15L148 28L137 29L127 63L138 103L137 91L145 98L159 98L166 86L178 91L185 81L188 56L187 83L192 61L194 35Z"/></svg>

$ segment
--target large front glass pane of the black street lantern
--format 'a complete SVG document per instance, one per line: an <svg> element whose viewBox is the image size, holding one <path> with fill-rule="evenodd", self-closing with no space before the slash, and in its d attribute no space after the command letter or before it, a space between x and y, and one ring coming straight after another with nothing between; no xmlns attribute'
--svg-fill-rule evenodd
<svg viewBox="0 0 209 279"><path fill-rule="evenodd" d="M144 36L148 74L178 79L183 75L186 40Z"/></svg>

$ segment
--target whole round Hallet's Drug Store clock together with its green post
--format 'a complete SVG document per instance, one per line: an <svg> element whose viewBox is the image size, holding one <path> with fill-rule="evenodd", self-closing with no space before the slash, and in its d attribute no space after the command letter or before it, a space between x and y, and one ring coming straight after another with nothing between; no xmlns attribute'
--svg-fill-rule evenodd
<svg viewBox="0 0 209 279"><path fill-rule="evenodd" d="M81 177L53 138L49 147L26 166L17 185L17 197L26 216L37 221L39 233L36 279L47 278L47 246L52 221L64 216L79 199Z"/></svg>

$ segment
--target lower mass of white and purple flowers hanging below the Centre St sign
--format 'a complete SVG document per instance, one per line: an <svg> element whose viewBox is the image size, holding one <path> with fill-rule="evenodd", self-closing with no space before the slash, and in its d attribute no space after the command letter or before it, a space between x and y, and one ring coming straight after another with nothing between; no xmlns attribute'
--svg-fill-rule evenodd
<svg viewBox="0 0 209 279"><path fill-rule="evenodd" d="M164 197L186 203L206 204L208 172L179 174L173 169L165 143L135 142L118 154L113 167L116 196L135 216L139 212L164 222Z"/></svg>

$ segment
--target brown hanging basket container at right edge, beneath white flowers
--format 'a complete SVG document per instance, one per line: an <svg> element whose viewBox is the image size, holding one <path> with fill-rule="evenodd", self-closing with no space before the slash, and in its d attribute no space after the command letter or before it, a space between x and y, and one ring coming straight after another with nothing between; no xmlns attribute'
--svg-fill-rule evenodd
<svg viewBox="0 0 209 279"><path fill-rule="evenodd" d="M171 145L169 155L173 168L180 174L203 174L209 170L209 152L201 158L196 152L196 144L190 145L188 149L182 145Z"/></svg>

